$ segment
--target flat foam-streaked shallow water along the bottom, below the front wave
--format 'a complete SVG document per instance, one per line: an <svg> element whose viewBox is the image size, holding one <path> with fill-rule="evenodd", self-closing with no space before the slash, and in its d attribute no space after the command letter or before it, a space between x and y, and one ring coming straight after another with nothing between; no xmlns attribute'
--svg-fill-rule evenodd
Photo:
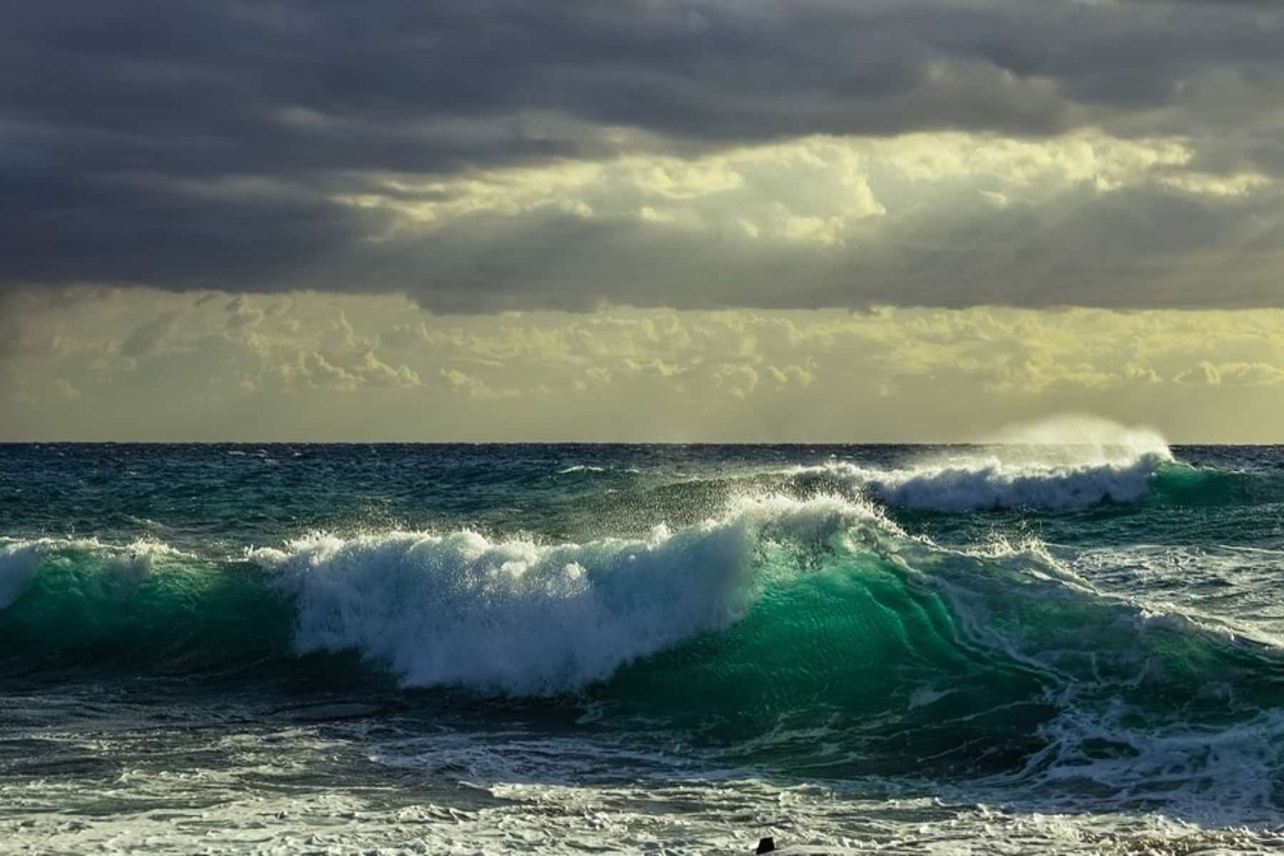
<svg viewBox="0 0 1284 856"><path fill-rule="evenodd" d="M73 775L23 780L21 798L0 820L8 848L747 853L760 835L774 835L781 852L835 855L1263 853L1284 846L1274 823L1203 829L1150 811L1055 814L1055 806L1031 806L1019 788L978 793L971 779L909 787L874 778L790 780L751 767L711 769L716 761L690 751L646 756L618 739L579 734L398 734L386 724L265 729L239 721L160 732L116 730L109 740L99 733L33 734L58 758L82 758L87 747L110 751L122 773L92 787ZM158 765L162 752L167 764ZM334 785L343 765L369 776L371 764L393 782L417 776L415 800ZM999 807L978 803L980 796ZM1217 805L1213 794L1203 801ZM104 802L140 810L104 812Z"/></svg>

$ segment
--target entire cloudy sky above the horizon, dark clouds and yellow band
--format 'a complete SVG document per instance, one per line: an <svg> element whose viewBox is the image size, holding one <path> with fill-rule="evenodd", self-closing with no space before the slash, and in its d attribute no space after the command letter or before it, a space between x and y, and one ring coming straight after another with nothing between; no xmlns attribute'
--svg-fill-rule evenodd
<svg viewBox="0 0 1284 856"><path fill-rule="evenodd" d="M1276 0L0 22L0 439L1284 440Z"/></svg>

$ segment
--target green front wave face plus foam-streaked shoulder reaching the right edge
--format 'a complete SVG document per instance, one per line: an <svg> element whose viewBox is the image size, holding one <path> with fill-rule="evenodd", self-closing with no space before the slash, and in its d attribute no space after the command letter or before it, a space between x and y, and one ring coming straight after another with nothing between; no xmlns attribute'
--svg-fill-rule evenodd
<svg viewBox="0 0 1284 856"><path fill-rule="evenodd" d="M815 775L1064 774L1244 725L1278 776L1284 737L1278 648L1037 567L924 551L828 556L594 696Z"/></svg>

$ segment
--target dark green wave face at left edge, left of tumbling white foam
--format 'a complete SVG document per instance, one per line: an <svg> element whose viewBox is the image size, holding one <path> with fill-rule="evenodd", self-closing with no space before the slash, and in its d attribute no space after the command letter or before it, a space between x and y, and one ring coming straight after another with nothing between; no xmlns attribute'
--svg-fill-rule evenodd
<svg viewBox="0 0 1284 856"><path fill-rule="evenodd" d="M297 657L293 599L247 562L49 540L0 545L0 575L10 595L0 599L0 674L9 676L390 684L356 655Z"/></svg>

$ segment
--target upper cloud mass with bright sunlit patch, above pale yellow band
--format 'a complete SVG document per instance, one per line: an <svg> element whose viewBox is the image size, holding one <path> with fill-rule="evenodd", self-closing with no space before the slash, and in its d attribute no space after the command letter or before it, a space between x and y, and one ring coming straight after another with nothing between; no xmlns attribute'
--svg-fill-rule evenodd
<svg viewBox="0 0 1284 856"><path fill-rule="evenodd" d="M1278 4L0 14L9 291L443 312L1284 298Z"/></svg>

